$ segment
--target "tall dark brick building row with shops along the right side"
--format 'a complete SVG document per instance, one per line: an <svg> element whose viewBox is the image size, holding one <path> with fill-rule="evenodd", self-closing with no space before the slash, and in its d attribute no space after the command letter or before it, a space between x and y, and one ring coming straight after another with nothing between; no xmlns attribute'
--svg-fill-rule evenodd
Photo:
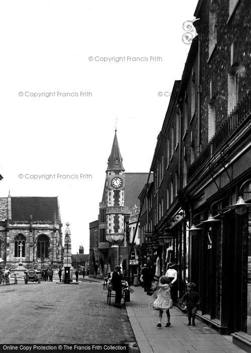
<svg viewBox="0 0 251 353"><path fill-rule="evenodd" d="M177 305L187 282L195 282L198 317L247 347L250 207L228 206L238 196L250 200L250 2L200 0L195 16L198 35L174 84L151 164L140 256L161 273L176 262ZM145 231L153 236L144 238Z"/></svg>

